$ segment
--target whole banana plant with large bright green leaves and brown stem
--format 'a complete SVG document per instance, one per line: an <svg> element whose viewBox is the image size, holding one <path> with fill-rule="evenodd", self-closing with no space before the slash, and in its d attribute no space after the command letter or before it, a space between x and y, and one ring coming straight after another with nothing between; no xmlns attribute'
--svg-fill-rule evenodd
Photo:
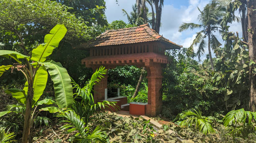
<svg viewBox="0 0 256 143"><path fill-rule="evenodd" d="M38 99L46 87L48 73L54 83L55 100L58 107L65 109L73 105L72 84L67 70L59 62L46 61L46 58L59 46L59 42L66 35L66 32L67 29L64 25L56 25L44 37L44 44L40 44L32 50L32 57L15 51L0 50L0 56L12 58L16 61L13 65L0 66L0 76L6 70L11 69L13 71L16 69L22 72L27 80L23 89L8 89L5 91L7 94L12 94L18 102L26 105L22 143L28 141L31 128L31 111L37 105L36 103L42 103L38 102ZM6 113L10 113L10 111L4 111L0 115Z"/></svg>

